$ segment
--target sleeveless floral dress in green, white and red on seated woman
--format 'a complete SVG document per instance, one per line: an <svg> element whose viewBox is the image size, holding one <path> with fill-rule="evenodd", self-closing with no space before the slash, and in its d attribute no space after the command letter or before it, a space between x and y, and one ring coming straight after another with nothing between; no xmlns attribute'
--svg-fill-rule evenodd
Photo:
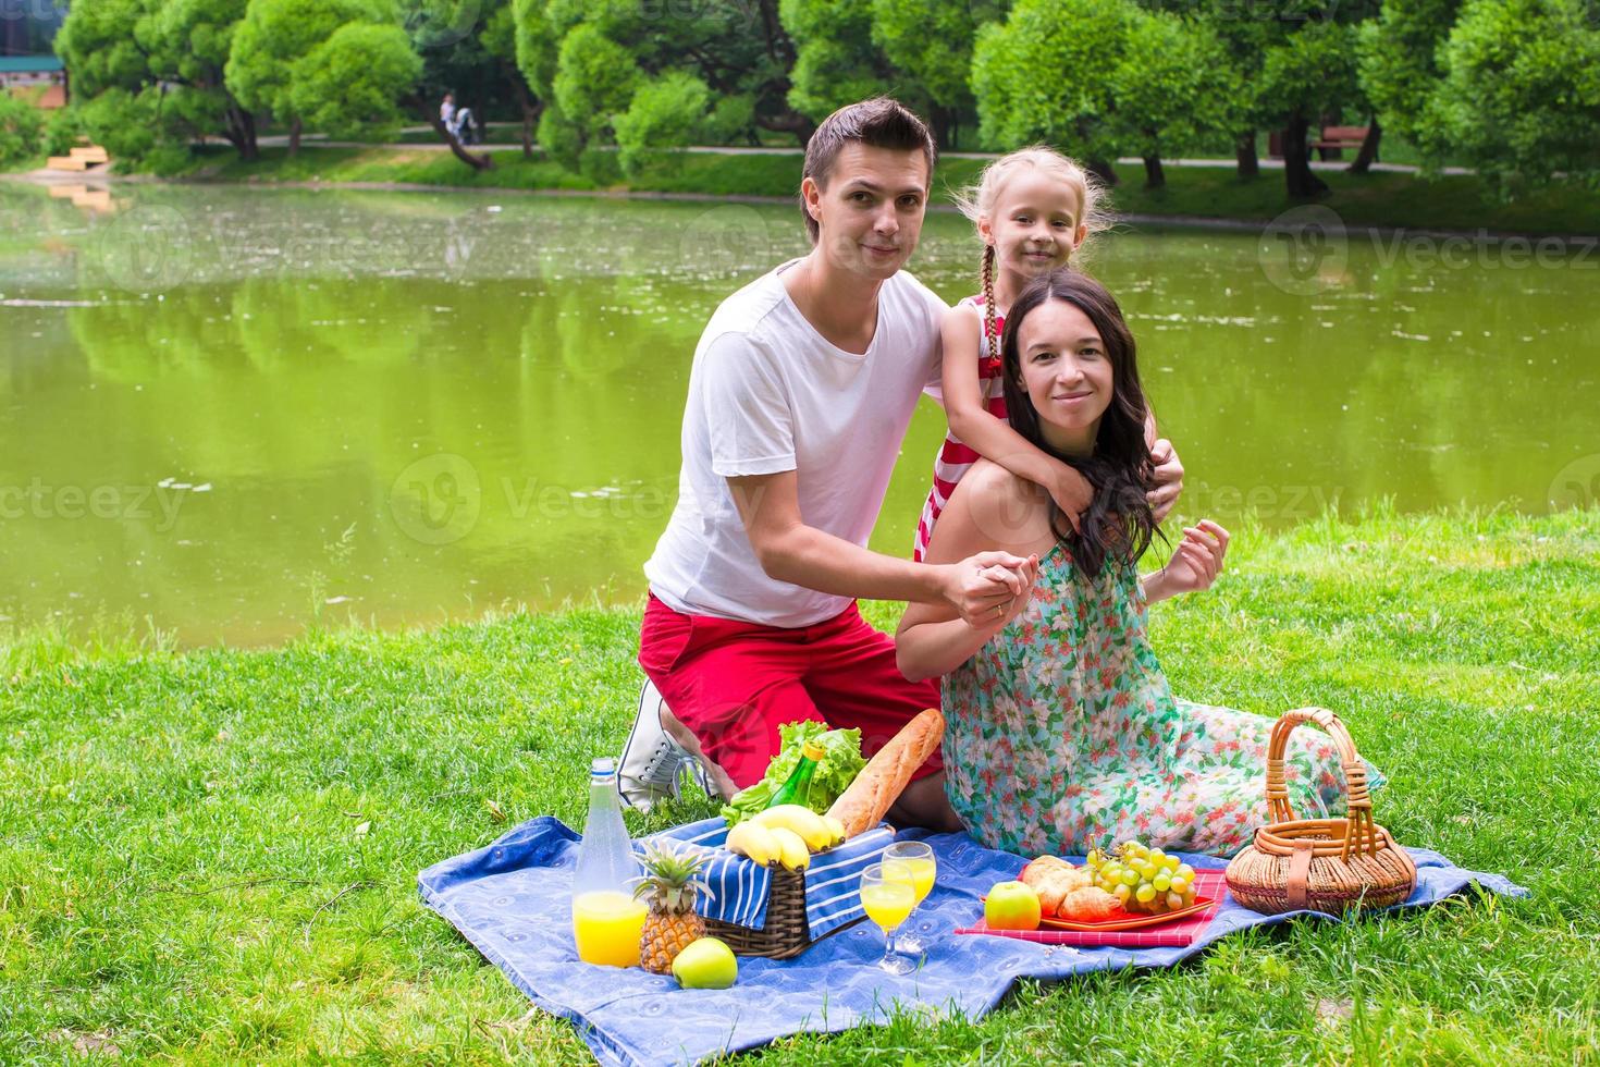
<svg viewBox="0 0 1600 1067"><path fill-rule="evenodd" d="M944 718L946 792L990 848L1083 854L1138 838L1230 856L1266 821L1275 720L1173 697L1131 563L1090 579L1058 544L1027 608L946 677ZM1288 755L1294 813L1342 814L1326 734L1296 729Z"/></svg>

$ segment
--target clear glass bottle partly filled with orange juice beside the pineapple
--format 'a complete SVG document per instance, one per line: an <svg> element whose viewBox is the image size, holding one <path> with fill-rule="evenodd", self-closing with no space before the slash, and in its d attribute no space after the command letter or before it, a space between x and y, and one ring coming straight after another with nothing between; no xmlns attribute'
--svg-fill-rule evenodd
<svg viewBox="0 0 1600 1067"><path fill-rule="evenodd" d="M573 872L573 939L584 963L638 966L638 937L650 909L634 899L637 875L638 859L618 805L616 760L595 760Z"/></svg>

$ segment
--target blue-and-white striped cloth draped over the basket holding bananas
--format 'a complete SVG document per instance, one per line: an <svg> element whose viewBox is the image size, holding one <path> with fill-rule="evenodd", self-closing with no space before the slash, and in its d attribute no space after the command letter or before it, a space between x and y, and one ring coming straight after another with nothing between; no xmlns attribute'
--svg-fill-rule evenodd
<svg viewBox="0 0 1600 1067"><path fill-rule="evenodd" d="M766 867L722 848L726 838L728 824L715 816L638 838L634 851L643 853L646 843L664 841L680 851L690 848L706 853L710 862L701 875L715 899L707 899L702 893L694 910L707 918L760 929L766 925L766 889L773 875ZM811 856L811 865L805 872L805 912L813 941L861 918L861 872L883 859L883 849L893 843L894 830L880 824Z"/></svg>

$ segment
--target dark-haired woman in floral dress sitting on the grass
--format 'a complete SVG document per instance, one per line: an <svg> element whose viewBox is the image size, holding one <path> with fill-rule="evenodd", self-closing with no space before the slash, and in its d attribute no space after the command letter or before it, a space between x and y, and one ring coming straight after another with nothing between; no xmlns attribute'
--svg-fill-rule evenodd
<svg viewBox="0 0 1600 1067"><path fill-rule="evenodd" d="M1266 817L1274 720L1174 699L1146 633L1146 605L1211 585L1229 534L1213 522L1186 528L1166 566L1138 576L1155 518L1147 408L1122 310L1070 270L1029 283L1010 310L1011 426L1096 490L1077 528L1038 485L986 459L950 496L930 563L1003 549L1029 560L1030 589L982 627L930 605L901 621L906 677L946 675L946 793L974 838L1026 856L1130 838L1232 854ZM1301 816L1342 809L1331 741L1296 731L1290 768Z"/></svg>

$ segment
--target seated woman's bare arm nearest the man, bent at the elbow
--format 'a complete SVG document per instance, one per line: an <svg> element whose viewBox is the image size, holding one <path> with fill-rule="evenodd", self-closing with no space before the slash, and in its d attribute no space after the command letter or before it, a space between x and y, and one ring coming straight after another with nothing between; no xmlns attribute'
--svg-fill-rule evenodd
<svg viewBox="0 0 1600 1067"><path fill-rule="evenodd" d="M907 605L894 633L894 661L901 673L912 681L947 675L1005 629L1027 606L1038 576L1042 534L1054 537L1038 488L997 464L974 464L933 528L926 561L947 563L1008 545L1006 552L1027 558L1021 571L1022 592L992 608L992 617L986 614L973 622L944 605Z"/></svg>

